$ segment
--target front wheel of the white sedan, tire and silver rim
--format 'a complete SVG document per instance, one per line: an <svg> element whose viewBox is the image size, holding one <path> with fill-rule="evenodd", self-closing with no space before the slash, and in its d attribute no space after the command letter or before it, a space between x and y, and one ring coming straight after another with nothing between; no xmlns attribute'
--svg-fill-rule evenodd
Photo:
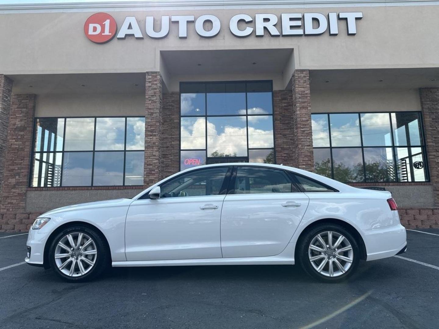
<svg viewBox="0 0 439 329"><path fill-rule="evenodd" d="M103 238L86 225L63 229L50 245L50 267L62 279L83 282L100 275L108 266L109 252Z"/></svg>

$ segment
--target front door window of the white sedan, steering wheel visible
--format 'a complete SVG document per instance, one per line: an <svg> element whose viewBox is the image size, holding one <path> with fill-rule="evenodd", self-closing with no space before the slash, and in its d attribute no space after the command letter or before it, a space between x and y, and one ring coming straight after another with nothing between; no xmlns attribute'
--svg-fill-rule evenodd
<svg viewBox="0 0 439 329"><path fill-rule="evenodd" d="M177 176L160 186L163 198L200 197L222 193L224 178L228 167L195 170Z"/></svg>

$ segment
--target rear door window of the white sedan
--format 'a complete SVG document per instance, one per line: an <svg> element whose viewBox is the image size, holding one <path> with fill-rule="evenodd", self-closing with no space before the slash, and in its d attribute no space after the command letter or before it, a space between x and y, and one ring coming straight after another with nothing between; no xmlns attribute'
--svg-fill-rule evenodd
<svg viewBox="0 0 439 329"><path fill-rule="evenodd" d="M235 194L299 192L283 171L261 167L237 167Z"/></svg>

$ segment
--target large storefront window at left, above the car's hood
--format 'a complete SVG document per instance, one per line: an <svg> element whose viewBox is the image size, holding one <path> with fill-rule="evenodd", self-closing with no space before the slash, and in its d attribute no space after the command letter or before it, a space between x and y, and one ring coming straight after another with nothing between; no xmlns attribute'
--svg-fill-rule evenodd
<svg viewBox="0 0 439 329"><path fill-rule="evenodd" d="M30 186L143 185L145 118L37 118Z"/></svg>

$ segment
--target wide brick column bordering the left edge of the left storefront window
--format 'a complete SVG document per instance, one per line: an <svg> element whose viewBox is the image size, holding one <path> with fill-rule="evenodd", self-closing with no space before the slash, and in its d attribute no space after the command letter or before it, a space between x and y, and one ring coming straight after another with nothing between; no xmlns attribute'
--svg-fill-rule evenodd
<svg viewBox="0 0 439 329"><path fill-rule="evenodd" d="M4 159L4 183L1 193L0 212L2 213L16 214L25 211L34 113L35 95L12 96Z"/></svg>

